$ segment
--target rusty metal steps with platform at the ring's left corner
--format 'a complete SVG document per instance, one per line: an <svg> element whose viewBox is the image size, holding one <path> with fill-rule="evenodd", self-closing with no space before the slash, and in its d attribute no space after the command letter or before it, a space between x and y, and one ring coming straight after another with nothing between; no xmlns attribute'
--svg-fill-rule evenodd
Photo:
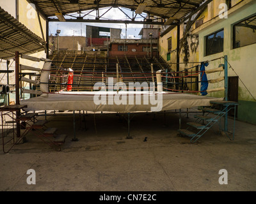
<svg viewBox="0 0 256 204"><path fill-rule="evenodd" d="M8 153L14 145L24 141L25 136L31 131L33 135L37 136L45 142L47 145L55 150L61 150L61 145L65 143L67 135L56 134L57 128L47 128L47 120L38 120L36 116L38 113L20 113L22 108L26 108L26 105L9 105L0 108L2 117L2 140L3 140L3 152ZM3 118L8 117L12 119L12 133L9 134L6 131L6 120ZM15 131L14 124L17 124ZM18 126L19 125L19 126ZM19 134L18 134L19 133ZM16 135L16 136L15 136ZM11 138L10 138L11 136ZM8 145L9 144L9 145ZM6 150L8 148L8 150Z"/></svg>

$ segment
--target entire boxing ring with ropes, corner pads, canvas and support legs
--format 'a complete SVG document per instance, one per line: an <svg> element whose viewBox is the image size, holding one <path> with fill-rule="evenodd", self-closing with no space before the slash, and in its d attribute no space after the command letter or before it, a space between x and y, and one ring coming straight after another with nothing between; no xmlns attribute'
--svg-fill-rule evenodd
<svg viewBox="0 0 256 204"><path fill-rule="evenodd" d="M30 61L44 61L44 67L42 69L24 66L19 64L19 57ZM223 57L221 57L223 58ZM206 95L205 92L225 91L225 100L227 101L227 65L220 64L216 69L200 70L196 72L191 71L191 76L199 78L201 75L201 84L204 81L202 76L206 73L222 72L224 71L224 77L217 78L216 80L207 80L207 83L218 83L225 81L225 87L219 87L217 89L204 89L202 87L200 91L188 91L188 90L175 90L168 89L168 86L163 85L168 82L169 79L180 78L179 72L168 72L167 70L151 70L147 73L150 78L149 85L146 83L133 83L133 86L127 86L122 82L123 73L118 70L119 65L116 64L116 76L108 78L108 83L104 83L103 78L106 78L106 73L102 72L102 83L97 82L91 91L72 91L72 77L76 75L75 71L64 70L66 76L68 76L67 82L61 84L65 89L49 92L49 78L51 72L51 60L38 59L36 57L30 57L29 55L20 55L19 52L15 55L15 94L16 105L24 105L22 111L25 113L44 111L45 118L47 111L56 112L73 112L73 124L74 124L74 138L73 141L77 141L76 138L76 113L79 111L92 112L92 113L125 113L127 114L128 122L128 136L130 136L130 114L140 112L165 112L169 110L179 110L181 113L182 108L195 108L198 106L211 106L211 101L223 101L224 98L213 98ZM208 62L207 62L208 63ZM202 62L201 64L205 64ZM22 71L36 71L39 72L40 80L31 80L25 76L28 73L22 74ZM164 72L165 71L165 72ZM134 75L135 73L133 73ZM146 73L143 73L144 75ZM22 77L20 77L22 76ZM92 75L91 75L92 76ZM175 77L176 76L176 77ZM189 75L188 75L189 76ZM92 76L93 77L93 76ZM185 76L186 77L186 76ZM100 77L99 77L100 78ZM116 84L111 84L115 78ZM125 77L123 77L125 78ZM129 78L129 77L127 77ZM140 77L138 77L140 78ZM156 85L155 85L156 80ZM147 80L148 81L148 80ZM39 85L40 91L26 89L21 86L21 82L29 84ZM173 83L175 84L175 83ZM148 86L147 86L148 85ZM24 94L36 94L36 97L29 99L20 99L20 92ZM17 110L17 118L20 117L21 110ZM70 115L70 113L69 113ZM84 115L84 114L83 114ZM180 115L181 123L181 115ZM17 137L20 135L20 121L17 120Z"/></svg>

